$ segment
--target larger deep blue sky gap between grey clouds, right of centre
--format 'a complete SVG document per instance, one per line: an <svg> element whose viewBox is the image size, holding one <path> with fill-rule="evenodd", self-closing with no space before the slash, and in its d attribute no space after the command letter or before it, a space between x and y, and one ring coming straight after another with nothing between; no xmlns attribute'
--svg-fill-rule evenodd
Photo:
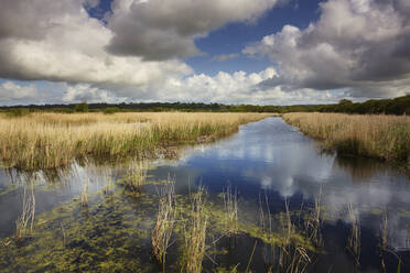
<svg viewBox="0 0 410 273"><path fill-rule="evenodd" d="M249 43L258 42L263 36L282 30L283 25L292 24L301 29L308 28L317 20L319 2L292 1L279 8L270 9L257 22L230 23L211 32L206 37L195 41L196 46L206 55L188 58L186 62L196 73L215 75L219 70L234 73L240 67L247 73L259 72L271 66L267 57L248 57L240 55L225 62L213 61L218 55L240 53Z"/></svg>

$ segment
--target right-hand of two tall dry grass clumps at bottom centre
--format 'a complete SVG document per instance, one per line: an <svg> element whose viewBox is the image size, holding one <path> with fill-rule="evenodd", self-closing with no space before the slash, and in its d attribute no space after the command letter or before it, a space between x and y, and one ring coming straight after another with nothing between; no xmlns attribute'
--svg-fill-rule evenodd
<svg viewBox="0 0 410 273"><path fill-rule="evenodd" d="M192 194L192 208L188 218L185 219L181 267L187 273L202 272L208 222L205 197L206 190L203 187L199 187L197 193Z"/></svg>

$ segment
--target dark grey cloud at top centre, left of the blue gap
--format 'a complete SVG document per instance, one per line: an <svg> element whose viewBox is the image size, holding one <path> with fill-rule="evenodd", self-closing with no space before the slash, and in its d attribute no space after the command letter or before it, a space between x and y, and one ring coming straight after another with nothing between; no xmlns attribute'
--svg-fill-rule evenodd
<svg viewBox="0 0 410 273"><path fill-rule="evenodd" d="M230 22L252 21L278 0L116 0L109 52L168 59L201 54L194 39Z"/></svg>

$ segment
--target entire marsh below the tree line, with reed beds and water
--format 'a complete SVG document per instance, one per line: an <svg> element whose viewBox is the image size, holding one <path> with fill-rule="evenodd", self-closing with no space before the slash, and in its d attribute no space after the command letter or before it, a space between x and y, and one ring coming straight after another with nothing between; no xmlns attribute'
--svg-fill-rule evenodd
<svg viewBox="0 0 410 273"><path fill-rule="evenodd" d="M0 117L0 272L408 272L409 118Z"/></svg>

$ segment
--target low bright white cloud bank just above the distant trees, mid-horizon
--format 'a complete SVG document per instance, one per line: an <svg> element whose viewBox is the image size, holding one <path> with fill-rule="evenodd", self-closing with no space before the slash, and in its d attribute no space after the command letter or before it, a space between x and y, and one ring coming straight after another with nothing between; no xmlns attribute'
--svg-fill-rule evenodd
<svg viewBox="0 0 410 273"><path fill-rule="evenodd" d="M273 67L259 73L233 74L219 72L215 76L205 74L192 75L185 78L168 78L152 84L143 92L122 96L118 90L95 88L90 85L67 86L64 102L78 101L185 101L185 102L223 102L223 103L258 103L258 105L302 105L312 101L328 103L337 102L349 95L343 90L337 92L317 91L309 88L287 90L283 87L269 89L260 85L269 78L277 77ZM166 89L166 91L162 91ZM128 92L130 94L130 92Z"/></svg>

